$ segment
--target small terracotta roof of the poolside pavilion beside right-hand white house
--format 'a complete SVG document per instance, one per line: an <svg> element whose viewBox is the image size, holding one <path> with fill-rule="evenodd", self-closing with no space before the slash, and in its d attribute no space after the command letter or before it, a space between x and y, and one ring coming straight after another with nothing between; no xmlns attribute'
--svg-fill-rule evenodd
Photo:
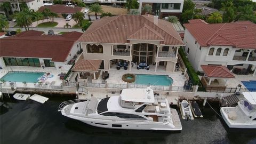
<svg viewBox="0 0 256 144"><path fill-rule="evenodd" d="M207 77L234 78L235 76L225 66L201 65Z"/></svg>

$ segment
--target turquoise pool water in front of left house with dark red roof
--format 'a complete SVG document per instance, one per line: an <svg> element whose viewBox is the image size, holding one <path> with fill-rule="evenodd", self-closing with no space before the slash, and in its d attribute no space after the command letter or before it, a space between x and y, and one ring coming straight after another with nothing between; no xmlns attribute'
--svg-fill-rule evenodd
<svg viewBox="0 0 256 144"><path fill-rule="evenodd" d="M44 73L34 73L34 72L9 72L4 75L0 80L4 80L6 82L27 82L27 83L35 83L38 82L37 78L43 76Z"/></svg>

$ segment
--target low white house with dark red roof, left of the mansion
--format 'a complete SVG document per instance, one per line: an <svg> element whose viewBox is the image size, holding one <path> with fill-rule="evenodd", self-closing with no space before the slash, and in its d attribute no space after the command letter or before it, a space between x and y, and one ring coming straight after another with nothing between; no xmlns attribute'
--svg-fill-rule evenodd
<svg viewBox="0 0 256 144"><path fill-rule="evenodd" d="M0 38L0 67L55 67L69 70L68 62L81 49L76 31L63 35L44 35L42 31L22 33Z"/></svg>

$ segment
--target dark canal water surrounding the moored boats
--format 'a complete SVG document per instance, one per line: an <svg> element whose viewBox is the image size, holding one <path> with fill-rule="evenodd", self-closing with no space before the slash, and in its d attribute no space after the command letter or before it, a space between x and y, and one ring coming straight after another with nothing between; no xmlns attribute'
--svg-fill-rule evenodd
<svg viewBox="0 0 256 144"><path fill-rule="evenodd" d="M1 102L0 143L256 143L255 130L228 129L207 105L204 118L181 119L182 131L173 133L92 127L58 112L61 101L68 99L52 97L44 104L14 99ZM219 110L218 105L214 108Z"/></svg>

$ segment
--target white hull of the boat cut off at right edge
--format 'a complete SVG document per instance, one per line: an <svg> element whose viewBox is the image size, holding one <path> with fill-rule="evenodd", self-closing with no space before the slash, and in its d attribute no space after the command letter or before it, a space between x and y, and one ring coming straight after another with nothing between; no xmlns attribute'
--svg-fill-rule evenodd
<svg viewBox="0 0 256 144"><path fill-rule="evenodd" d="M230 107L227 107L230 108ZM225 108L220 108L220 113L228 127L235 128L235 129L256 129L256 124L245 124L245 123L234 123L228 118L227 113L225 112Z"/></svg>

